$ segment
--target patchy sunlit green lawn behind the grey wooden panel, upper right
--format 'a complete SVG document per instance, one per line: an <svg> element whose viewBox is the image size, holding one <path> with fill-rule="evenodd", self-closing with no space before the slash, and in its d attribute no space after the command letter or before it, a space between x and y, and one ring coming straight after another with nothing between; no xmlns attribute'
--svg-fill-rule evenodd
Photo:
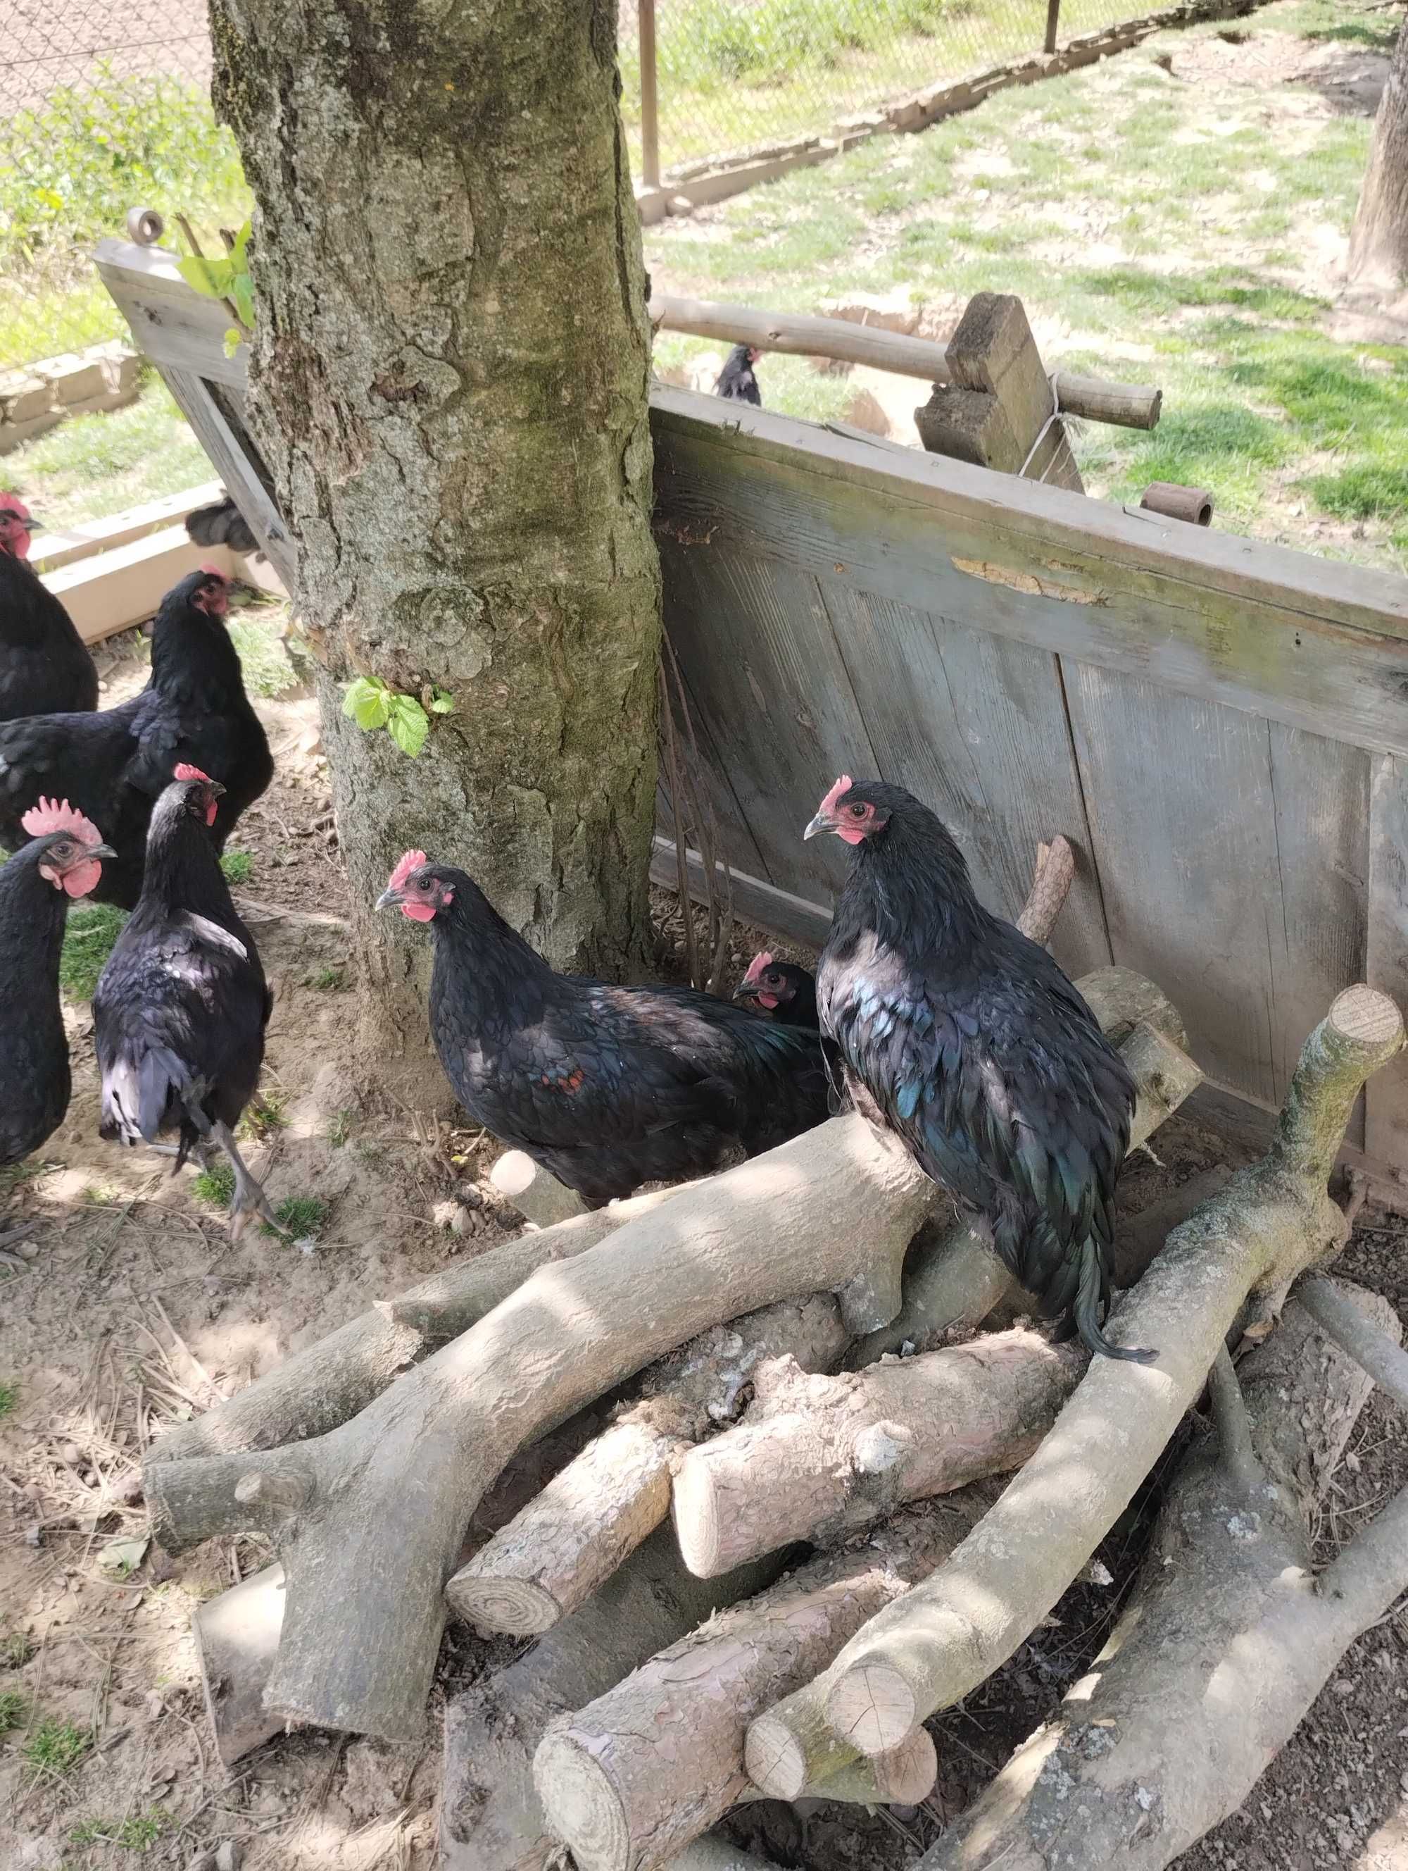
<svg viewBox="0 0 1408 1871"><path fill-rule="evenodd" d="M1395 19L1305 0L1236 30L1247 45L1163 34L647 228L653 281L789 311L896 286L939 309L1017 292L1047 363L1163 387L1152 434L1083 430L1090 492L1189 481L1217 526L1408 571L1408 352L1337 335L1331 303L1371 122L1286 82L1320 49L1386 51ZM1206 69L1180 77L1200 45ZM1258 82L1268 62L1275 82ZM662 335L656 357L705 348ZM845 380L804 359L767 357L759 378L770 408L845 410Z"/></svg>

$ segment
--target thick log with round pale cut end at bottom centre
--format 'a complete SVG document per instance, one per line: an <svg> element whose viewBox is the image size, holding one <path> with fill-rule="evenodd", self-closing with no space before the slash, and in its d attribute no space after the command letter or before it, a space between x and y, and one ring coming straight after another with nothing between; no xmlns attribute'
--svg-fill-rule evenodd
<svg viewBox="0 0 1408 1871"><path fill-rule="evenodd" d="M985 1484L903 1510L858 1551L813 1559L553 1723L533 1772L548 1822L582 1871L654 1871L716 1824L750 1791L750 1718L812 1676L866 1617L941 1564L995 1493ZM918 1757L905 1753L881 1768L879 1779L871 1768L864 1791L851 1779L826 1791L825 1781L851 1764L821 1761L810 1777L789 1779L785 1796L868 1794L881 1802L890 1796L886 1787L901 1785L903 1804L916 1804L922 1746Z"/></svg>

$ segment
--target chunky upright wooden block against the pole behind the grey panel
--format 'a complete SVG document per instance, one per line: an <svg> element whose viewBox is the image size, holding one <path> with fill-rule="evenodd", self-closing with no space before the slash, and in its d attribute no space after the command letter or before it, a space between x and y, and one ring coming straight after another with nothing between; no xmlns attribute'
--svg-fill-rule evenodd
<svg viewBox="0 0 1408 1871"><path fill-rule="evenodd" d="M931 455L1085 492L1021 299L978 292L944 352L948 384L914 412Z"/></svg>

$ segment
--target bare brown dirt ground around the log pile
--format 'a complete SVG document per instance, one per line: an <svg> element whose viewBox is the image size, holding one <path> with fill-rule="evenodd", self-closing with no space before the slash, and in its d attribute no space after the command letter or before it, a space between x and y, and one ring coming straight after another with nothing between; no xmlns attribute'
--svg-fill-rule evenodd
<svg viewBox="0 0 1408 1871"><path fill-rule="evenodd" d="M110 694L142 679L114 660ZM439 1706L486 1667L456 1635L445 1650L423 1748L297 1733L213 1759L191 1613L258 1570L256 1538L178 1560L146 1542L135 1487L142 1450L323 1336L372 1298L451 1254L507 1239L516 1218L484 1181L494 1145L426 1111L389 1108L352 1050L346 909L309 703L260 703L280 776L241 823L247 898L277 1001L266 1108L252 1160L275 1201L316 1196L325 1218L297 1244L228 1240L187 1171L95 1136L92 1023L67 1010L75 1095L43 1160L0 1188L0 1865L32 1871L209 1865L237 1841L245 1871L372 1871L434 1864ZM656 896L662 967L677 971L679 911ZM742 969L755 932L739 932ZM761 939L761 937L759 937ZM774 945L780 952L800 950ZM1174 1121L1122 1184L1137 1212L1219 1160L1217 1138ZM460 1201L456 1203L456 1196ZM441 1205L462 1233L438 1226ZM467 1203L467 1205L466 1205ZM1408 1319L1408 1226L1365 1211L1343 1270ZM4 1390L0 1390L4 1396ZM1408 1435L1372 1401L1335 1476L1320 1547L1337 1545L1408 1482ZM935 1725L941 1781L912 1813L765 1806L739 1822L798 1871L901 1867L963 1809L991 1770L1055 1706L1105 1639L1133 1581L1156 1489L1101 1551L1114 1583L1079 1585L1056 1622ZM1346 1656L1296 1740L1243 1813L1182 1865L1189 1871L1408 1871L1408 1609ZM1397 1815L1397 1817L1395 1817Z"/></svg>

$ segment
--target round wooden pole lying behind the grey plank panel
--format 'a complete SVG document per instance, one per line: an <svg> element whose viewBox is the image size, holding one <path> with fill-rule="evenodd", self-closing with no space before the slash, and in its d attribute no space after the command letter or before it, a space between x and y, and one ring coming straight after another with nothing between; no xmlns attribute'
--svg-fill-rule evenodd
<svg viewBox="0 0 1408 1871"><path fill-rule="evenodd" d="M722 305L714 299L681 299L658 292L651 299L651 324L664 331L688 331L722 344L755 344L791 357L834 357L838 363L871 365L926 384L952 384L941 344L899 331L858 326L849 318L815 318L806 312L769 312L755 305ZM1154 428L1163 391L1150 384L1116 384L1101 376L1056 372L1056 408L1092 423L1122 428Z"/></svg>

